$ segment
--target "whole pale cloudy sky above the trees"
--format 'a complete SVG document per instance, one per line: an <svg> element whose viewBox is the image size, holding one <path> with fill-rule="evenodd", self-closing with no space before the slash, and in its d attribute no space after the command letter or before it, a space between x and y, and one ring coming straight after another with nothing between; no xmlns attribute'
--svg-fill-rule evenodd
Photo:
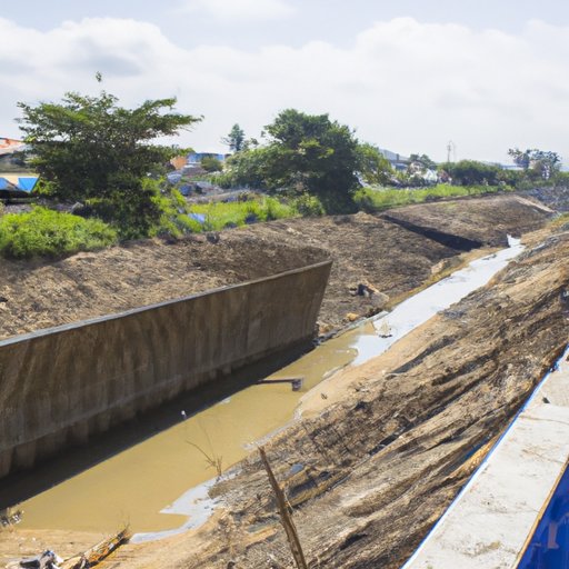
<svg viewBox="0 0 569 569"><path fill-rule="evenodd" d="M509 163L512 147L569 164L563 0L0 0L0 137L18 101L68 91L124 107L176 97L203 116L176 140L227 151L283 109L328 113L359 140L437 161ZM94 76L102 73L99 84Z"/></svg>

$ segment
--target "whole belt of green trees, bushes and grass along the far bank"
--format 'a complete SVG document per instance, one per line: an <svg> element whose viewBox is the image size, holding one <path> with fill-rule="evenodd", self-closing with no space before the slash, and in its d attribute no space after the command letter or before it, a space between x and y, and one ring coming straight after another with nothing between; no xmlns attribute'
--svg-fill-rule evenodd
<svg viewBox="0 0 569 569"><path fill-rule="evenodd" d="M0 207L0 252L57 257L117 239L179 238L295 216L376 212L435 199L567 184L569 179L560 172L557 153L517 148L509 150L521 167L517 171L475 160L437 167L427 154L416 153L407 170L396 172L377 147L360 142L348 126L328 114L287 109L264 128L262 144L246 140L236 123L222 139L233 156L226 163L214 157L201 161L213 183L268 196L190 207L163 178L168 160L180 149L154 143L202 120L174 112L174 104L172 98L124 109L106 91L97 97L70 92L59 103L37 107L20 102L28 166L41 176L34 193L56 202L78 201L81 217L43 208L2 216ZM430 186L437 176L452 186ZM179 186L193 181L186 172Z"/></svg>

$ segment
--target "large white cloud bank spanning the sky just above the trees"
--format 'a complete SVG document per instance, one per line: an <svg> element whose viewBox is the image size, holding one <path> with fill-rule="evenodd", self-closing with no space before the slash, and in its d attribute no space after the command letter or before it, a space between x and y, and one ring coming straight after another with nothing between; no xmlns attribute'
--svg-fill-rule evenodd
<svg viewBox="0 0 569 569"><path fill-rule="evenodd" d="M211 1L211 0L209 0ZM532 21L518 34L423 24L371 24L349 48L310 42L254 52L184 50L156 26L86 19L47 32L0 19L0 136L16 137L16 101L103 87L127 106L178 97L206 120L181 144L222 149L234 122L258 137L280 110L329 112L362 139L401 153L507 160L509 147L555 150L569 162L569 30Z"/></svg>

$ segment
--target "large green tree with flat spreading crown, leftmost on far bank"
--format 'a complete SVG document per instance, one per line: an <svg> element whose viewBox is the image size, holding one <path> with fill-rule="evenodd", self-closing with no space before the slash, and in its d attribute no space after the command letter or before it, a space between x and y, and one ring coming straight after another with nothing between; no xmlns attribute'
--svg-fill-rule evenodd
<svg viewBox="0 0 569 569"><path fill-rule="evenodd" d="M113 94L67 93L37 107L19 102L42 191L59 200L88 203L114 222L123 237L142 237L163 213L163 199L149 176L163 172L179 149L156 144L201 118L173 112L176 99L148 100L124 109Z"/></svg>

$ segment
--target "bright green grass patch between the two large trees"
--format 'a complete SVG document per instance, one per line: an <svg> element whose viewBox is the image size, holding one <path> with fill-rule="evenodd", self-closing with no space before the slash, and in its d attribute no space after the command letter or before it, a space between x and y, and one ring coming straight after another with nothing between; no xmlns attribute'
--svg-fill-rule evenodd
<svg viewBox="0 0 569 569"><path fill-rule="evenodd" d="M192 231L219 231L230 227L240 227L258 221L271 221L296 217L292 206L280 202L274 198L262 197L249 201L212 202L190 207L190 213L206 216L206 223L189 219Z"/></svg>

